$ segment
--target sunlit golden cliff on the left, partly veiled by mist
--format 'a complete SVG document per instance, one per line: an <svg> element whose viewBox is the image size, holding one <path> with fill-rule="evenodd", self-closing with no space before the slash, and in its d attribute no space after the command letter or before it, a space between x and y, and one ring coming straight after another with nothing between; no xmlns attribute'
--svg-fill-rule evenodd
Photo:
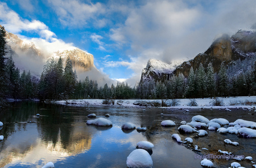
<svg viewBox="0 0 256 168"><path fill-rule="evenodd" d="M63 58L64 62L68 57L70 57L73 63L73 67L76 69L76 71L80 72L89 71L94 66L93 55L75 47L64 50L57 50L51 54L46 54L33 42L22 40L13 33L6 32L6 41L6 57L9 57L11 55L14 58L14 61L19 60L19 62L15 62L17 64L23 62L22 65L16 65L22 70L25 67L27 68L27 71L30 70L30 64L24 65L24 61L20 61L24 57L26 57L26 59L35 59L36 62L41 62L42 66L43 64L45 64L46 60L51 57L54 57L56 59L59 59L59 57L61 57Z"/></svg>

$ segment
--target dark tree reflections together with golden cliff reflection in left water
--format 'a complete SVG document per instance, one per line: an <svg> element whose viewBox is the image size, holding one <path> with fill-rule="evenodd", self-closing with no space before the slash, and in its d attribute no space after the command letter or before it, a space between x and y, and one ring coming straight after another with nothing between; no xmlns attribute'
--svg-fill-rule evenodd
<svg viewBox="0 0 256 168"><path fill-rule="evenodd" d="M0 143L0 167L23 160L35 150L42 150L42 156L43 153L51 153L55 158L89 150L95 130L86 126L83 113L76 113L79 116L75 116L72 111L74 109L65 106L35 102L23 102L19 107L3 111L0 118L5 124L0 134L5 139ZM37 113L39 118L35 117ZM36 123L27 123L30 120ZM31 135L31 132L38 132L39 135ZM22 137L23 140L19 140ZM42 156L36 157L40 159Z"/></svg>

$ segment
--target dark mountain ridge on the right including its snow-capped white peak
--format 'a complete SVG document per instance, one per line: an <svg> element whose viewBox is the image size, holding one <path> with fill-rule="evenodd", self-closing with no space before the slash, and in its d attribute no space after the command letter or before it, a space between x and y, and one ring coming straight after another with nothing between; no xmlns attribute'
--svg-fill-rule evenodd
<svg viewBox="0 0 256 168"><path fill-rule="evenodd" d="M171 75L179 74L187 77L191 67L193 67L193 70L196 70L199 68L200 63L203 64L204 68L207 68L211 62L214 72L218 72L221 62L224 62L230 67L237 60L243 61L246 59L248 61L247 59L255 57L256 32L240 30L231 37L226 34L221 35L214 40L207 51L196 55L195 58L185 61L177 67L161 61L148 61L147 67L142 70L141 82L152 79L163 81L164 79L169 79Z"/></svg>

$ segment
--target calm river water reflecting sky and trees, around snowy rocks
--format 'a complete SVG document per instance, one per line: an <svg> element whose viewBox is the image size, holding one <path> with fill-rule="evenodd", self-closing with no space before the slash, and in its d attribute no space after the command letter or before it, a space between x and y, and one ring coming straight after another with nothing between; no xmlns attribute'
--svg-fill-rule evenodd
<svg viewBox="0 0 256 168"><path fill-rule="evenodd" d="M40 117L36 117L36 114ZM86 125L88 114L98 117L110 114L113 127ZM163 116L160 113L164 113ZM139 141L147 140L155 145L151 155L153 167L201 167L198 155L221 154L225 150L233 154L251 156L256 160L255 139L238 137L235 134L220 134L208 131L208 135L197 137L196 133L182 134L177 131L181 120L191 121L194 115L208 119L225 118L256 120L254 111L232 109L232 111L210 109L160 109L112 106L65 106L18 102L15 107L0 111L0 167L42 167L51 161L55 167L126 167L126 158L136 149ZM162 120L171 119L175 127L162 127ZM125 131L125 122L137 127L147 127L146 132ZM179 133L181 140L192 137L193 145L201 152L192 150L186 144L177 143L172 133ZM224 144L224 139L240 143L238 146ZM233 159L213 159L215 167L229 167ZM238 161L236 161L238 162ZM244 167L251 167L249 161L240 161Z"/></svg>

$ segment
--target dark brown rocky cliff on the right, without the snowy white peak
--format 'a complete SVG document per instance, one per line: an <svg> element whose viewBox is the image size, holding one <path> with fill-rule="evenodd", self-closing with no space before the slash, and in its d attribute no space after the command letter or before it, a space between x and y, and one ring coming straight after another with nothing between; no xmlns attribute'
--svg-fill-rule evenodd
<svg viewBox="0 0 256 168"><path fill-rule="evenodd" d="M214 72L220 70L221 62L229 64L237 59L245 59L246 57L255 57L256 52L256 32L238 31L235 35L229 37L222 35L218 37L212 45L204 53L196 55L195 58L185 61L175 70L172 70L171 75L183 74L188 76L191 66L194 70L199 68L200 63L206 68L211 62L213 64ZM143 70L144 71L144 70ZM143 71L141 82L143 81ZM150 70L148 70L150 71ZM154 75L154 72L147 72L149 74L147 79L162 80L163 76L170 76L170 72Z"/></svg>

